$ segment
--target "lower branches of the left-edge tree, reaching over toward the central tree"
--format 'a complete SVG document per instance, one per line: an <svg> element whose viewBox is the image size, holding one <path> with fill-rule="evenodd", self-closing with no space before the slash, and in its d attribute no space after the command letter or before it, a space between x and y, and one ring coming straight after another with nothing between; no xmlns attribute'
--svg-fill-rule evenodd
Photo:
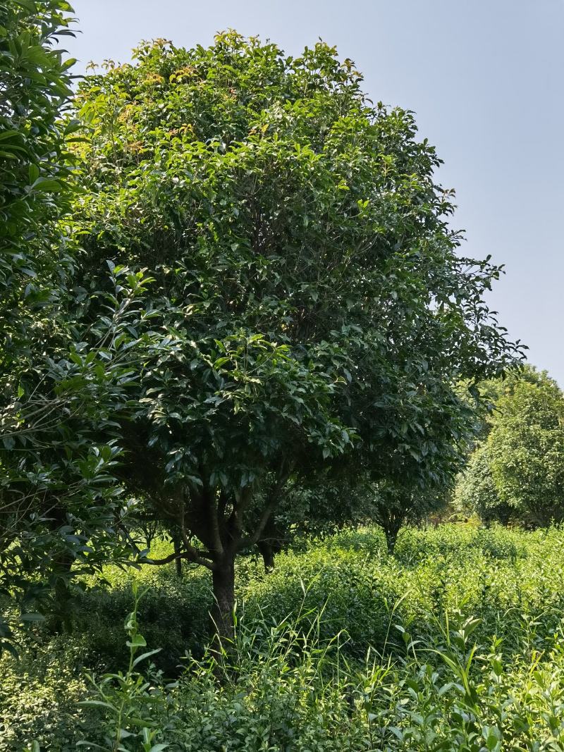
<svg viewBox="0 0 564 752"><path fill-rule="evenodd" d="M88 328L62 320L49 355L34 347L3 374L0 591L57 612L57 623L71 616L71 578L132 554L117 534L131 503L117 480L116 427L153 343L132 334L147 316L139 298L149 280L142 272L121 280L124 272L115 273L116 296L104 297L104 320Z"/></svg>

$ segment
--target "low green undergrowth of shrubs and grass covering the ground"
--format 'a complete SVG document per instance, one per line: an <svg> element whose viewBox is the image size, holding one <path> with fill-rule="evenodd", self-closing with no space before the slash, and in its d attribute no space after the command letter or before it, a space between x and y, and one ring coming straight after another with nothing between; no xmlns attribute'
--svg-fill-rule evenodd
<svg viewBox="0 0 564 752"><path fill-rule="evenodd" d="M128 702L157 723L153 743L172 750L562 749L561 547L559 529L443 526L405 530L394 558L381 533L365 529L304 542L268 577L242 559L235 671L223 685L197 644L209 575L180 581L173 568L144 568L147 647L138 654L159 647L169 616L176 626L183 618L186 635L149 659L177 683L166 689L141 662L153 701L129 692ZM32 738L53 752L85 736L100 741L105 711L77 705L99 699L80 669L95 670L97 684L108 669L126 672L121 625L133 604L119 570L105 575L111 590L81 601L83 632L62 640L37 627L20 663L3 659L2 752ZM190 645L198 660L178 677ZM110 704L123 699L109 683L106 691ZM123 741L141 749L135 737Z"/></svg>

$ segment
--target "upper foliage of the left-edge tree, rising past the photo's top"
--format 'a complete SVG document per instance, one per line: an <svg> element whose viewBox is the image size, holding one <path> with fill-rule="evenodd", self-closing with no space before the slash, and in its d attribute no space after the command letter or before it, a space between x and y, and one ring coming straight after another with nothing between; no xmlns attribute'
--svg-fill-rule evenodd
<svg viewBox="0 0 564 752"><path fill-rule="evenodd" d="M29 329L48 333L58 284L71 265L56 220L68 205L62 116L74 62L58 47L71 34L65 0L0 2L0 367L29 353Z"/></svg>

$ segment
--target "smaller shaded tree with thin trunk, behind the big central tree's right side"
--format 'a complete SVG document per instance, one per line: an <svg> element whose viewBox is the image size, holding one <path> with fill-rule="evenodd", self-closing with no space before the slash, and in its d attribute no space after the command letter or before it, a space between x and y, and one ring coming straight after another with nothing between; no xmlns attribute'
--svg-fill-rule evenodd
<svg viewBox="0 0 564 752"><path fill-rule="evenodd" d="M450 402L446 394L441 400L435 394L435 404L429 400L424 408L418 405L412 420L425 426L425 444L420 447L413 442L402 447L394 441L369 453L360 444L329 471L311 475L307 484L296 479L261 541L266 569L274 564L273 553L296 535L324 535L347 524L377 523L393 554L402 526L421 523L447 506L479 428L468 399L473 401L468 396L460 403L451 390ZM402 420L408 420L405 412Z"/></svg>

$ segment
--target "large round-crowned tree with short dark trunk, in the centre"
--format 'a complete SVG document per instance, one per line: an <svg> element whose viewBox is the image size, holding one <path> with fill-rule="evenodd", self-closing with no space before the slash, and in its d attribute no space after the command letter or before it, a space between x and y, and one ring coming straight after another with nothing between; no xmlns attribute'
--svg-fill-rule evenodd
<svg viewBox="0 0 564 752"><path fill-rule="evenodd" d="M174 343L138 374L124 477L211 569L220 632L287 484L361 452L381 477L392 456L451 472L451 385L520 356L484 303L499 268L457 253L435 150L361 81L326 44L229 32L143 44L80 86L81 284L106 259L147 268Z"/></svg>

